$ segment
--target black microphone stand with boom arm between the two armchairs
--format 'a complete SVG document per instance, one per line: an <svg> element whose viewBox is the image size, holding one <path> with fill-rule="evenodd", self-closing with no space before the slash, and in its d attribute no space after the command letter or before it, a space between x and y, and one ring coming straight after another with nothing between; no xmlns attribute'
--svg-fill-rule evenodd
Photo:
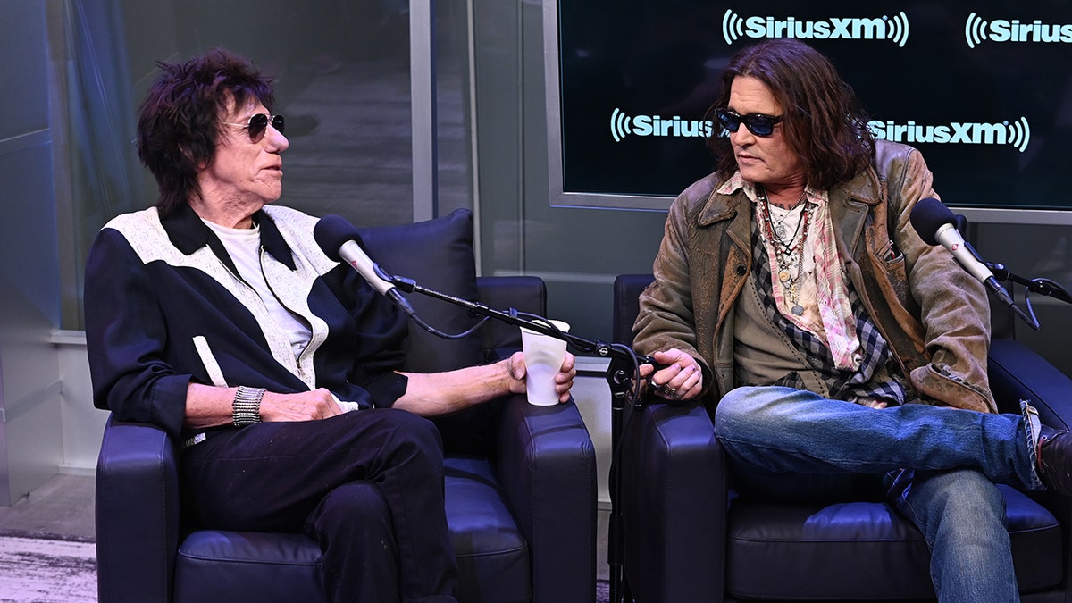
<svg viewBox="0 0 1072 603"><path fill-rule="evenodd" d="M464 334L451 336L442 334L432 328L430 325L421 321L416 314L411 315L415 323L433 335L447 338L464 337L482 325L483 322L490 318L548 335L550 337L554 337L555 339L562 339L566 341L568 345L572 345L575 349L582 352L595 354L600 358L610 358L611 362L607 369L606 377L611 391L612 448L610 497L611 512L610 523L608 526L607 564L610 565L610 601L611 603L619 603L620 601L623 601L623 597L625 594L625 578L622 572L622 564L625 557L625 542L622 540L622 511L617 503L617 501L622 498L622 481L617 479L616 475L613 475L613 472L616 471L615 468L621 467L621 446L619 443L621 442L622 437L625 408L627 405L631 405L638 409L642 406L639 377L640 365L650 364L656 369L658 369L661 365L656 363L654 358L636 354L632 351L632 348L628 345L622 343L594 341L583 337L578 337L571 333L560 330L542 317L519 312L513 308L510 308L509 311L505 312L494 310L483 304L470 302L468 299L462 299L460 297L455 297L453 295L448 295L446 293L420 286L412 279L387 275L381 270L378 266L376 266L376 269L382 278L391 281L394 286L406 293L417 292L429 297L434 297L443 302L462 306L467 308L470 313L483 318L483 320Z"/></svg>

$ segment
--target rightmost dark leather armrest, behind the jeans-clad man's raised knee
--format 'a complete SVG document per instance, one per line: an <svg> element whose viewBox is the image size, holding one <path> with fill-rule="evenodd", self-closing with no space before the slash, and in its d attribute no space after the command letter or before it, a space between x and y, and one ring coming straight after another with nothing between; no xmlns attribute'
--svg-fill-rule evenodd
<svg viewBox="0 0 1072 603"><path fill-rule="evenodd" d="M1019 413L1028 400L1043 423L1072 428L1072 379L1013 339L991 342L987 374L1000 412Z"/></svg>

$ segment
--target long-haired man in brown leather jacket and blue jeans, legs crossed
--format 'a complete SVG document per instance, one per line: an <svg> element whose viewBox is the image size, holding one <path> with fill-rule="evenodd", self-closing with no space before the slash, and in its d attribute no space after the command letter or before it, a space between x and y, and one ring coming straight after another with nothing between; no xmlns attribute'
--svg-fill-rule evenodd
<svg viewBox="0 0 1072 603"><path fill-rule="evenodd" d="M640 297L657 395L703 400L742 488L846 499L861 482L923 532L943 601L1016 601L996 483L1072 490L1067 432L997 414L982 285L909 225L937 196L795 40L739 52L711 108L716 171L672 204ZM979 543L984 543L980 546Z"/></svg>

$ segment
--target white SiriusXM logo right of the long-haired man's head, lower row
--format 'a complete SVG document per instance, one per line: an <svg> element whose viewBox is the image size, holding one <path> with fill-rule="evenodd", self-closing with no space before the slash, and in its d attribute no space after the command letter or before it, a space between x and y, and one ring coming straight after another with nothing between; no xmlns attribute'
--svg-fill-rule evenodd
<svg viewBox="0 0 1072 603"><path fill-rule="evenodd" d="M937 143L961 145L1010 145L1019 152L1027 150L1031 139L1031 128L1027 118L1019 121L1003 121L1001 123L961 123L951 122L941 126L923 126L909 121L894 123L893 121L872 120L867 128L876 138L895 143Z"/></svg>

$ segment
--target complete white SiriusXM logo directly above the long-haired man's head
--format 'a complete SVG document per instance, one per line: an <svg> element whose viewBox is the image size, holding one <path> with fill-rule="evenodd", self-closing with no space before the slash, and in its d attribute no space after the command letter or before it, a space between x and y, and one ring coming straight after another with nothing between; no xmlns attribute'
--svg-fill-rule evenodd
<svg viewBox="0 0 1072 603"><path fill-rule="evenodd" d="M798 20L795 17L742 17L732 10L723 15L723 38L732 44L740 38L798 38L801 40L891 40L900 47L908 42L908 16L830 17Z"/></svg>

